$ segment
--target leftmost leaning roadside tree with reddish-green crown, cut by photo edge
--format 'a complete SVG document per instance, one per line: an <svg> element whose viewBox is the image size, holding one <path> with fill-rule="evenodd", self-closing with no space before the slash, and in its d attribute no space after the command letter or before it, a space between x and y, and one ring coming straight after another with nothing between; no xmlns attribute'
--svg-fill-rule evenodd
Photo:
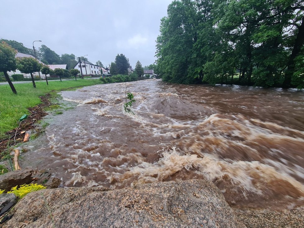
<svg viewBox="0 0 304 228"><path fill-rule="evenodd" d="M7 71L15 71L16 69L16 50L4 41L2 41L0 43L0 71L4 73L5 79L7 80L13 93L15 94L17 94L16 89L12 84L12 81L8 76Z"/></svg>

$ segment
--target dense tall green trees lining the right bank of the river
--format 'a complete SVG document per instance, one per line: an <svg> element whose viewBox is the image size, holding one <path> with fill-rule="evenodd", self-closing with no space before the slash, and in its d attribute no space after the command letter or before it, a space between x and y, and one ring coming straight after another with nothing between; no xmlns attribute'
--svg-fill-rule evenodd
<svg viewBox="0 0 304 228"><path fill-rule="evenodd" d="M181 0L157 38L157 71L177 83L304 86L304 3Z"/></svg>

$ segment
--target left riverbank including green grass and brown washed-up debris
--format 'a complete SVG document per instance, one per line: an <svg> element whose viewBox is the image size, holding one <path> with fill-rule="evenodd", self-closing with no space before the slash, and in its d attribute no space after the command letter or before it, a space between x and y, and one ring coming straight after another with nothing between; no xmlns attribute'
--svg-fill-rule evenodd
<svg viewBox="0 0 304 228"><path fill-rule="evenodd" d="M52 101L62 90L71 90L103 84L100 80L66 80L51 81L49 85L45 82L37 81L37 88L34 89L32 84L16 84L17 95L12 94L8 85L0 86L0 159L7 156L7 148L14 144L21 143L25 131L34 128L49 111L57 108ZM19 118L27 114L28 117L23 121Z"/></svg>

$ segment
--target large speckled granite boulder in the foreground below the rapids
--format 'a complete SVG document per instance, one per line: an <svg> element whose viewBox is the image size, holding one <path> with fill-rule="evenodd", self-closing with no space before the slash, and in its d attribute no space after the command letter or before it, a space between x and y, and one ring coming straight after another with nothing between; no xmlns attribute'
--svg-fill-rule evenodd
<svg viewBox="0 0 304 228"><path fill-rule="evenodd" d="M44 189L18 202L11 227L245 227L206 180L131 188Z"/></svg>

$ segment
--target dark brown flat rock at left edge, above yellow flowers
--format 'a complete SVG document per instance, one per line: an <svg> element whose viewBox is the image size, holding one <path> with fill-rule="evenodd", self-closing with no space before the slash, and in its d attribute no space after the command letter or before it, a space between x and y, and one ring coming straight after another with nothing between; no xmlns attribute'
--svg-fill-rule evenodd
<svg viewBox="0 0 304 228"><path fill-rule="evenodd" d="M30 184L33 170L17 170L0 175L0 189L8 192L17 185Z"/></svg>

